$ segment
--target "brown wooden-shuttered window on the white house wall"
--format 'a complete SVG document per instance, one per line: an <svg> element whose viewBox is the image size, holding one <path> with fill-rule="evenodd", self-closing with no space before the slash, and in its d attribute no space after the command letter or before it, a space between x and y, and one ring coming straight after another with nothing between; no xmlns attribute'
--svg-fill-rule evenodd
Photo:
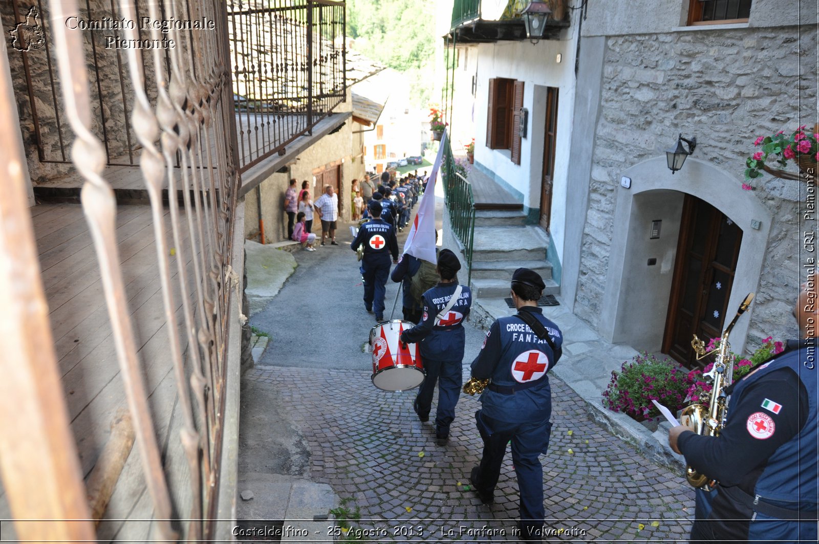
<svg viewBox="0 0 819 544"><path fill-rule="evenodd" d="M494 78L489 80L489 111L486 114L486 147L509 149L512 162L520 164L520 110L523 107L523 81Z"/></svg>

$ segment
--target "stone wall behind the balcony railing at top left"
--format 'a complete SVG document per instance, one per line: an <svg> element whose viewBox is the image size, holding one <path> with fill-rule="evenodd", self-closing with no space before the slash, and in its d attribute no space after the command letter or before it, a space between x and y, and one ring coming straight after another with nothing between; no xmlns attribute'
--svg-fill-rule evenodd
<svg viewBox="0 0 819 544"><path fill-rule="evenodd" d="M148 0L138 0L137 10L140 16L147 16ZM30 3L30 2L29 2ZM18 2L18 14L24 20L29 3ZM81 2L79 20L102 20L104 18L121 19L119 11L112 11L108 0L90 0L90 10ZM8 48L11 74L14 79L14 93L17 109L20 114L20 129L23 133L25 152L29 163L29 172L34 185L47 179L65 175L73 170L70 163L70 145L74 133L66 118L65 106L60 87L60 76L57 70L57 57L54 52L54 33L52 25L65 25L65 20L52 20L48 2L42 2L43 11L39 14L38 23L43 28L47 47L19 52ZM15 17L13 2L0 2L0 17L3 27L13 29L18 22ZM73 23L72 23L73 24ZM111 29L68 29L68 32L79 32L84 40L85 66L88 74L88 93L91 101L91 119L93 134L105 143L107 161L111 164L138 164L139 144L133 130L129 129L133 104L133 85L131 84L127 59L124 50L114 47L106 48L108 37L122 38L120 30ZM201 31L204 32L204 31ZM172 34L163 34L172 37ZM140 31L142 39L148 39L147 30ZM177 43L181 58L187 59L188 34L185 40ZM7 38L7 37L5 37ZM4 39L5 39L4 38ZM79 52L77 52L79 54ZM165 50L161 50L165 59ZM24 62L25 61L25 62ZM26 62L28 65L27 84ZM162 61L163 63L165 60ZM143 52L144 73L147 79L147 92L152 103L156 101L156 79L154 77L153 52ZM187 64L183 70L187 71ZM120 75L121 70L121 75ZM34 102L34 107L32 107ZM38 153L38 137L35 128L39 129L39 143L43 156Z"/></svg>

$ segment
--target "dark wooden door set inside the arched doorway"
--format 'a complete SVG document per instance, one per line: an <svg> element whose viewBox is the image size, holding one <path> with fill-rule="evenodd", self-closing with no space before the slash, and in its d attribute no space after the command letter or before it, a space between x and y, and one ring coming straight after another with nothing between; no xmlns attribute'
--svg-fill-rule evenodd
<svg viewBox="0 0 819 544"><path fill-rule="evenodd" d="M722 334L741 243L742 229L730 218L686 195L663 353L690 369L707 362L696 360L692 336L708 342Z"/></svg>

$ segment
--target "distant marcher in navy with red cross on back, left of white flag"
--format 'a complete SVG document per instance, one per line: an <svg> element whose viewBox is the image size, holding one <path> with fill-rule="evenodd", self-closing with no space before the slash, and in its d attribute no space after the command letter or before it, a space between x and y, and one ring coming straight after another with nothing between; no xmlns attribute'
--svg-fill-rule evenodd
<svg viewBox="0 0 819 544"><path fill-rule="evenodd" d="M396 229L381 219L381 202L369 202L371 220L362 224L358 236L350 244L358 251L364 246L361 259L361 276L364 279L364 307L375 311L375 320L384 320L384 294L387 292L387 278L390 275L390 254L392 264L398 263L398 240Z"/></svg>

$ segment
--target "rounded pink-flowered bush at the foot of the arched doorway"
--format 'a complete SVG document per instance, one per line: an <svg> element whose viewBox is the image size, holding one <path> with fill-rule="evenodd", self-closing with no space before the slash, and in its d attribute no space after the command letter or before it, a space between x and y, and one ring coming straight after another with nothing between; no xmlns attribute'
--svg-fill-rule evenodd
<svg viewBox="0 0 819 544"><path fill-rule="evenodd" d="M612 371L603 392L603 406L634 419L651 419L659 415L652 401L679 410L685 406L688 387L685 369L671 359L658 359L643 351L624 362L619 373Z"/></svg>

